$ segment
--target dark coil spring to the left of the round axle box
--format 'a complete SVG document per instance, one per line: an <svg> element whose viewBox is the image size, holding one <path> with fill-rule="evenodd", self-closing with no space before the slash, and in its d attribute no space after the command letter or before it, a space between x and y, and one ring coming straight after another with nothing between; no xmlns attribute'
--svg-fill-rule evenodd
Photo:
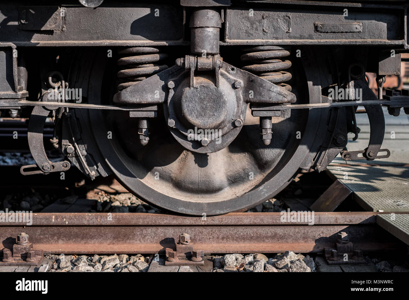
<svg viewBox="0 0 409 300"><path fill-rule="evenodd" d="M166 53L159 53L159 49L153 47L130 47L118 51L120 56L118 65L121 70L117 76L118 91L126 89L149 76L159 73L168 68L160 61L168 57ZM155 64L157 62L158 64Z"/></svg>

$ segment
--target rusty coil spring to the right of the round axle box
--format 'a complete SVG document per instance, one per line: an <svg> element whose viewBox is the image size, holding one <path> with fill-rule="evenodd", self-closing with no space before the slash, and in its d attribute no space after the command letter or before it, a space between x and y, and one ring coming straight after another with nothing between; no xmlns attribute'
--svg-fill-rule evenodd
<svg viewBox="0 0 409 300"><path fill-rule="evenodd" d="M252 63L243 67L243 70L291 91L291 86L283 83L291 79L291 73L281 71L290 68L291 62L280 59L289 56L290 51L277 46L258 46L245 48L243 51L247 53L243 54L240 59Z"/></svg>

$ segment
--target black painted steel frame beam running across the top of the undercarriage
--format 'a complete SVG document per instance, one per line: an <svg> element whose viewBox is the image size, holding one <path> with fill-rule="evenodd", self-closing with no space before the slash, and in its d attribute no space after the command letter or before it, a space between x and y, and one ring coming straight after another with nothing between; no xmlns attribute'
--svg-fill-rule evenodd
<svg viewBox="0 0 409 300"><path fill-rule="evenodd" d="M225 32L222 34L225 39L221 44L366 44L408 48L405 38L407 4L402 2L272 0L247 1L245 4L233 1L230 6L229 1L221 0L191 2L196 1L186 0L182 2L183 6L178 0L166 4L117 1L114 5L104 2L95 9L83 7L76 0L59 3L58 7L55 1L49 1L49 6L47 2L33 6L26 0L3 2L0 4L0 47L8 43L70 47L184 45L189 42L189 35L186 36L183 27L184 7L205 6L225 9ZM279 7L272 5L280 3ZM26 6L25 11L31 12L30 15L39 17L32 19L30 24L25 23L27 15L18 13L19 7L23 6ZM348 16L344 16L344 9L348 9ZM50 23L53 16L55 18ZM62 29L58 27L60 24ZM327 25L319 29L319 24ZM330 26L328 24L338 26L325 29ZM32 30L36 28L43 30Z"/></svg>

